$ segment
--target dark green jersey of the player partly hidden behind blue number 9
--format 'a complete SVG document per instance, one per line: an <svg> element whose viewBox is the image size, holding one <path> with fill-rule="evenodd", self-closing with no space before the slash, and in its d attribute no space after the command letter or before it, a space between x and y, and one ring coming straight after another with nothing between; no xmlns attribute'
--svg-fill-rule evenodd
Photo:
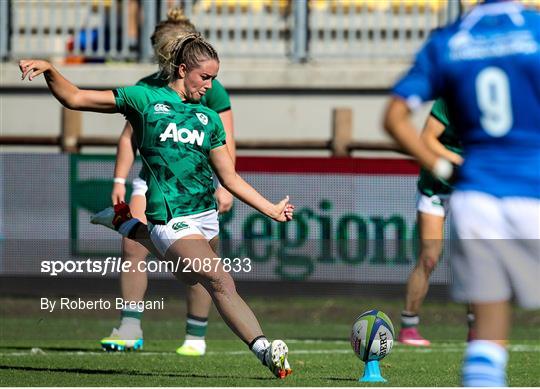
<svg viewBox="0 0 540 389"><path fill-rule="evenodd" d="M442 99L435 101L431 108L430 115L445 126L443 133L438 138L444 147L460 155L463 154L463 148L461 147L461 142L457 138L456 129L448 119L448 107ZM433 177L428 170L422 168L418 178L418 190L426 196L433 196L436 194L446 195L452 192L452 187Z"/></svg>

